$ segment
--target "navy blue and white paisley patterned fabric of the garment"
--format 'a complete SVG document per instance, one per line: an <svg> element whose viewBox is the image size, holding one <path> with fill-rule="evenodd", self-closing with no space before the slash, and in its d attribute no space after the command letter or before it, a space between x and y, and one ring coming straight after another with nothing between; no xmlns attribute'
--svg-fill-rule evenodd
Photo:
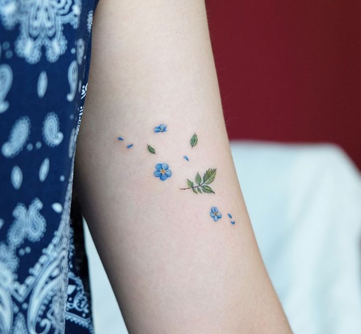
<svg viewBox="0 0 361 334"><path fill-rule="evenodd" d="M97 0L0 0L0 334L94 333L74 156Z"/></svg>

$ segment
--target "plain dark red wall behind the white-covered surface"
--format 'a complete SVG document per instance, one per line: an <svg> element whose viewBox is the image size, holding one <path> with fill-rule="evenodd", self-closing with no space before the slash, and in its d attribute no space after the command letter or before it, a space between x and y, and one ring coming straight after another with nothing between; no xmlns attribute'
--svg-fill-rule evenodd
<svg viewBox="0 0 361 334"><path fill-rule="evenodd" d="M361 167L361 1L206 6L230 138L338 143Z"/></svg>

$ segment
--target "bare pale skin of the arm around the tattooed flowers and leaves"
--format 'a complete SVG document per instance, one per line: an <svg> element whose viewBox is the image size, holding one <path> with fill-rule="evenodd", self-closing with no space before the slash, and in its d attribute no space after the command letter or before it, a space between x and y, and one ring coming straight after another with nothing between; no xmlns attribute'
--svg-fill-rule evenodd
<svg viewBox="0 0 361 334"><path fill-rule="evenodd" d="M208 168L215 193L181 190ZM291 333L233 166L204 1L100 1L74 185L129 333Z"/></svg>

